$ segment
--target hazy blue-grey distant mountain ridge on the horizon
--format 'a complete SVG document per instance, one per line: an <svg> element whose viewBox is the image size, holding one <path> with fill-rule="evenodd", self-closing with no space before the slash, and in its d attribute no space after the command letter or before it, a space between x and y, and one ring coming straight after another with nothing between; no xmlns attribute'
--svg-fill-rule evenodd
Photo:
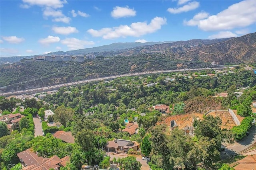
<svg viewBox="0 0 256 170"><path fill-rule="evenodd" d="M122 49L129 49L134 47L140 47L143 45L153 45L153 44L162 44L162 43L172 43L174 41L164 41L164 42L146 42L146 43L112 43L110 45L102 45L100 47L92 47L86 49L78 49L72 51L57 51L54 53L48 53L48 55L77 55L77 54L88 54L101 51L118 51Z"/></svg>

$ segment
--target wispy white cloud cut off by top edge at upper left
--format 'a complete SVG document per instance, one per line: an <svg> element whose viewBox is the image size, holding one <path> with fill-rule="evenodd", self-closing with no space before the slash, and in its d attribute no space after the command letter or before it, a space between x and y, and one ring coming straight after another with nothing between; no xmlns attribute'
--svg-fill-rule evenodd
<svg viewBox="0 0 256 170"><path fill-rule="evenodd" d="M48 6L51 8L62 8L63 4L67 4L66 0L22 0L25 4L30 6Z"/></svg>

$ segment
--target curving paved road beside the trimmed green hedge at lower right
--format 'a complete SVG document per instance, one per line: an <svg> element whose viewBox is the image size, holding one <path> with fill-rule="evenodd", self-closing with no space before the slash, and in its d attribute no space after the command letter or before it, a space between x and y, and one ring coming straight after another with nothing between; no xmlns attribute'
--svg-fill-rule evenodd
<svg viewBox="0 0 256 170"><path fill-rule="evenodd" d="M251 145L256 143L256 126L252 125L251 129L249 130L249 135L245 136L241 141L233 143L229 145L220 153L220 157L222 159L228 158L229 156L234 156L239 154L245 149L248 149Z"/></svg>

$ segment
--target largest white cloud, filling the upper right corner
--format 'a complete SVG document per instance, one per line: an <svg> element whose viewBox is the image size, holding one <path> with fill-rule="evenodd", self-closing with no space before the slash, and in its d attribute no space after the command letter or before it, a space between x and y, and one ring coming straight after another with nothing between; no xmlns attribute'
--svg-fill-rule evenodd
<svg viewBox="0 0 256 170"><path fill-rule="evenodd" d="M244 0L217 15L200 20L196 25L204 31L230 30L256 23L256 1Z"/></svg>

